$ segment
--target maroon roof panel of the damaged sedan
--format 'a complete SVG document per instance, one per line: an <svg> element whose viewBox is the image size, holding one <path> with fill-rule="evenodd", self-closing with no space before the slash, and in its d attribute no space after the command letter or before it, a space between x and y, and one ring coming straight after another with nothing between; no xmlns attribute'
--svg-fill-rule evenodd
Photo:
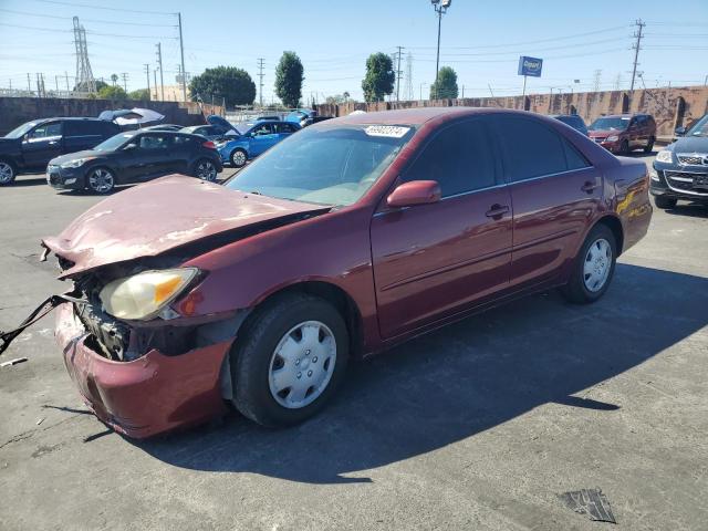
<svg viewBox="0 0 708 531"><path fill-rule="evenodd" d="M375 113L354 114L339 118L326 119L317 125L423 125L434 119L448 121L462 116L475 116L483 114L509 114L519 116L541 115L527 111L514 111L501 107L419 107L402 108L395 111L379 111Z"/></svg>

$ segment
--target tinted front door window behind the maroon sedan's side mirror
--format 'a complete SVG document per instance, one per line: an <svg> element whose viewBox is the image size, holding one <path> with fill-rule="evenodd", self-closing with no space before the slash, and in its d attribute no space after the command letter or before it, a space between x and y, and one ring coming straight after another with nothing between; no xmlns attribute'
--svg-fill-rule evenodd
<svg viewBox="0 0 708 531"><path fill-rule="evenodd" d="M406 171L404 180L437 180L442 197L494 186L494 158L485 124L471 121L442 129Z"/></svg>

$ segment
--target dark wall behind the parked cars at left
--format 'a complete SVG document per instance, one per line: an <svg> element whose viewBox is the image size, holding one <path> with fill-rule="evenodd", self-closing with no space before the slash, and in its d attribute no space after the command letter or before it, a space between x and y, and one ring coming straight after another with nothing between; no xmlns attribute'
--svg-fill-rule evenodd
<svg viewBox="0 0 708 531"><path fill-rule="evenodd" d="M222 114L219 106L194 102L138 102L111 100L79 100L54 97L0 97L0 135L4 135L20 124L35 118L54 116L96 117L102 111L116 108L150 108L165 115L165 123L177 125L199 125L209 114Z"/></svg>

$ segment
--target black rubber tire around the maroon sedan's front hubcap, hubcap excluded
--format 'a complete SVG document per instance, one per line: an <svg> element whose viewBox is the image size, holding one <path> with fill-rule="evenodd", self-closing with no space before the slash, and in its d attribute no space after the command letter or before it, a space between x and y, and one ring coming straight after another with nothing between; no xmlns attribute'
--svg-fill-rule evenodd
<svg viewBox="0 0 708 531"><path fill-rule="evenodd" d="M329 383L314 402L289 408L279 404L271 393L271 362L281 340L305 321L319 321L330 329L336 346L335 364ZM262 426L291 426L316 414L336 391L348 361L348 333L344 320L327 301L306 294L288 294L256 310L239 331L230 356L236 408Z"/></svg>

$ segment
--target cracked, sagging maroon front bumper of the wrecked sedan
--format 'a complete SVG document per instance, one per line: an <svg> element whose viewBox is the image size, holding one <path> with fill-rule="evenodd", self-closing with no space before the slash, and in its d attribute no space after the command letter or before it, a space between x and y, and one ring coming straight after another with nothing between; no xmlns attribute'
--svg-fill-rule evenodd
<svg viewBox="0 0 708 531"><path fill-rule="evenodd" d="M71 303L56 309L55 337L86 405L121 434L150 437L226 412L219 376L233 340L176 356L152 350L115 362L87 345L91 336Z"/></svg>

